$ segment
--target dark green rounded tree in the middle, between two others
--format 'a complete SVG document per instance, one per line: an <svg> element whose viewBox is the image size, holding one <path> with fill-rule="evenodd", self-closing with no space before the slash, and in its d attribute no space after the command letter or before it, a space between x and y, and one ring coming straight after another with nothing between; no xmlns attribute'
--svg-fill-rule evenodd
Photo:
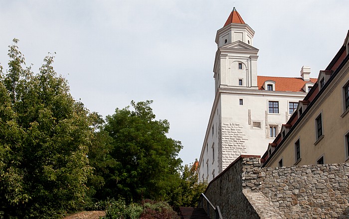
<svg viewBox="0 0 349 219"><path fill-rule="evenodd" d="M177 186L181 164L177 155L182 146L166 136L167 120L155 120L152 102L132 101L134 111L117 108L107 116L104 130L113 138L111 156L118 165L104 177L104 194L128 202L166 200Z"/></svg>

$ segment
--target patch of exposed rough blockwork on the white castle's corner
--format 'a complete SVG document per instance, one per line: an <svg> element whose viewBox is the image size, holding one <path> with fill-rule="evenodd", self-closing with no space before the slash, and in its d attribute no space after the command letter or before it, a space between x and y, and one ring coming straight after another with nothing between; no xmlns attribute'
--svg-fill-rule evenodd
<svg viewBox="0 0 349 219"><path fill-rule="evenodd" d="M223 123L222 125L222 170L241 154L246 154L246 139L242 132L242 126L238 123Z"/></svg>

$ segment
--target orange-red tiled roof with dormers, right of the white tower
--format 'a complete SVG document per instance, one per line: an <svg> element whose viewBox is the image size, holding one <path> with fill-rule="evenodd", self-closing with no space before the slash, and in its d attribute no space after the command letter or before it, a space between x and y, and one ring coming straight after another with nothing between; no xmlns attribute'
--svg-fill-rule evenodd
<svg viewBox="0 0 349 219"><path fill-rule="evenodd" d="M308 82L316 83L317 78L310 78L310 81L304 81L301 77L270 77L270 76L257 76L258 90L264 90L263 84L265 81L275 81L275 91L291 91L291 92L304 92L302 89L304 84Z"/></svg>

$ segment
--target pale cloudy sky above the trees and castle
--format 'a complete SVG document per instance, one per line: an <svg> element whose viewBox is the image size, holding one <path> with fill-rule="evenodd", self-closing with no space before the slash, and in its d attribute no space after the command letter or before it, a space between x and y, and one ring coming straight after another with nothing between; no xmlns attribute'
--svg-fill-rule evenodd
<svg viewBox="0 0 349 219"><path fill-rule="evenodd" d="M153 100L183 164L199 159L214 99L216 31L233 7L254 31L258 75L311 77L349 30L348 0L1 0L0 65L19 39L38 72L48 52L76 100L103 117Z"/></svg>

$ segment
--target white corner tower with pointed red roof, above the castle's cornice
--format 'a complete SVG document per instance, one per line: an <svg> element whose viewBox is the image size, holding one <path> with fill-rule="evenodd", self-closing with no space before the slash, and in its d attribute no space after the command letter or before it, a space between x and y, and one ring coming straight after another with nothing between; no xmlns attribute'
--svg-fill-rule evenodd
<svg viewBox="0 0 349 219"><path fill-rule="evenodd" d="M218 50L213 67L216 91L218 87L227 86L258 88L258 49L252 46L253 35L253 29L234 7L216 34Z"/></svg>

